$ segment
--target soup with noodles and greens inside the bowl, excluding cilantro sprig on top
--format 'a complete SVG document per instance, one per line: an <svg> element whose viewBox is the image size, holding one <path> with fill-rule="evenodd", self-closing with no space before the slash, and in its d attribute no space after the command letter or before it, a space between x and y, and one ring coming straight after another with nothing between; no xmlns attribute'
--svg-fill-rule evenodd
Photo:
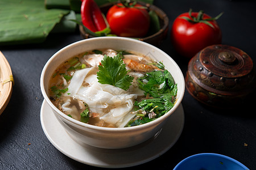
<svg viewBox="0 0 256 170"><path fill-rule="evenodd" d="M122 58L127 75L133 77L127 90L98 82L98 66L104 56ZM49 99L61 112L109 128L155 120L173 107L177 92L177 84L162 62L112 49L92 50L68 59L52 74L49 87Z"/></svg>

